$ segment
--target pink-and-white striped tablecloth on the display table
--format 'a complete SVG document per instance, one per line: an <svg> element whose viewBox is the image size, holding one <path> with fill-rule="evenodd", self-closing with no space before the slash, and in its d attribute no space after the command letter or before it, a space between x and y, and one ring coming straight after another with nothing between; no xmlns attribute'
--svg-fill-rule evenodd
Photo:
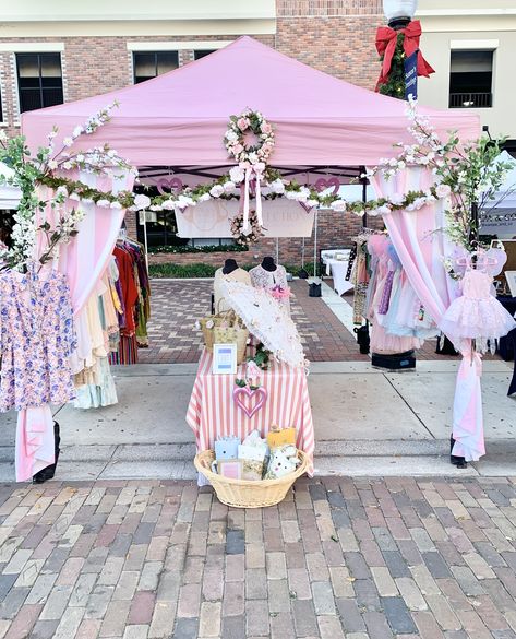
<svg viewBox="0 0 516 639"><path fill-rule="evenodd" d="M267 399L262 409L248 417L232 395L235 379L244 377L244 365L238 367L237 375L214 375L212 363L212 354L204 350L187 413L197 450L213 449L219 436L243 439L255 428L265 436L272 426L296 426L297 447L310 458L309 475L312 476L314 433L304 370L273 362L262 378Z"/></svg>

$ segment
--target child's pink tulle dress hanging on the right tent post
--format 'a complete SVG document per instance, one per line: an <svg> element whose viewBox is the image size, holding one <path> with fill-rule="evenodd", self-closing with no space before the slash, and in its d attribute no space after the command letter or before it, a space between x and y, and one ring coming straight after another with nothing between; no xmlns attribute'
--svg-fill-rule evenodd
<svg viewBox="0 0 516 639"><path fill-rule="evenodd" d="M492 276L468 267L463 279L463 295L457 297L440 323L453 341L495 340L516 328L516 321L491 294Z"/></svg>

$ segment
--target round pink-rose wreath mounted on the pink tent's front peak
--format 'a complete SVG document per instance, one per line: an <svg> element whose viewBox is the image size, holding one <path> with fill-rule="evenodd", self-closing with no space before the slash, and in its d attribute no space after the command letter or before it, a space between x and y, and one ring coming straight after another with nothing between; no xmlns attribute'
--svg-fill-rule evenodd
<svg viewBox="0 0 516 639"><path fill-rule="evenodd" d="M254 134L257 142L247 144L247 133ZM266 164L274 150L273 126L267 122L260 111L245 109L239 116L229 118L229 127L224 137L224 142L229 155L239 163L256 164L263 162Z"/></svg>

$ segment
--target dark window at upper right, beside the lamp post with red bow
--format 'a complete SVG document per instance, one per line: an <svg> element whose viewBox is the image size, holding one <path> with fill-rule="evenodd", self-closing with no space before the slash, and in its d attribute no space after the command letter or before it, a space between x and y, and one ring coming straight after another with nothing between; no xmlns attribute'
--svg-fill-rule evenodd
<svg viewBox="0 0 516 639"><path fill-rule="evenodd" d="M452 51L449 107L492 106L493 51Z"/></svg>

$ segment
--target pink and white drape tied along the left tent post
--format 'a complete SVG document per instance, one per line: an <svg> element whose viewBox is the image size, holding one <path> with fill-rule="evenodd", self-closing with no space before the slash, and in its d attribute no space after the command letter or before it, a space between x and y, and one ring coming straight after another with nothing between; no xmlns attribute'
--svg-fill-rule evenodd
<svg viewBox="0 0 516 639"><path fill-rule="evenodd" d="M131 190L133 176L124 173L112 180L94 174L80 174L79 179L101 191L115 193ZM41 188L39 197L46 201L49 191ZM79 235L68 245L61 245L57 268L67 274L72 307L76 316L95 289L106 270L125 211L122 209L104 209L94 203L85 204L74 200L67 201L67 209L81 206L86 215L79 225ZM47 206L38 224L47 220L52 226L57 212ZM43 234L38 234L36 258L45 251ZM81 335L79 335L81 339ZM20 411L16 426L15 466L16 481L26 482L38 471L53 463L53 418L50 406L29 406ZM41 465L43 464L43 465Z"/></svg>

